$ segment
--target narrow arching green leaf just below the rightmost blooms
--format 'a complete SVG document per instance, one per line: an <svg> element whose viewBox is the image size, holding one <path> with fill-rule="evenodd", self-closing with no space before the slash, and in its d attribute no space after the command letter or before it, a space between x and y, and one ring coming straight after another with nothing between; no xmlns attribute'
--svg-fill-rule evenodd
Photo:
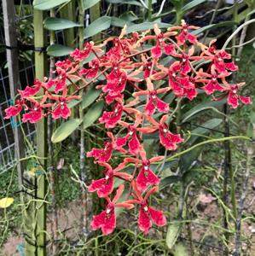
<svg viewBox="0 0 255 256"><path fill-rule="evenodd" d="M194 115L205 111L207 109L214 109L217 111L217 107L223 106L223 104L226 102L226 99L223 99L218 102L202 102L198 105L196 105L194 108L191 108L188 110L188 112L183 114L183 120L182 123L185 123L188 121L188 119L191 119Z"/></svg>

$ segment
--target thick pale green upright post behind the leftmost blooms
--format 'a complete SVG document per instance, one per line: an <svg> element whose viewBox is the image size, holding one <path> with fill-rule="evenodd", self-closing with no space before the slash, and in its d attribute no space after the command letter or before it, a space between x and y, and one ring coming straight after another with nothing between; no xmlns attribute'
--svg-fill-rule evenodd
<svg viewBox="0 0 255 256"><path fill-rule="evenodd" d="M34 10L34 45L35 47L45 47L47 44L47 35L43 29L43 11ZM36 77L43 80L47 70L47 59L44 52L35 52L35 73ZM38 95L43 95L43 90L40 90ZM47 155L47 120L42 119L37 125L37 155L39 158L40 169L37 178L37 197L44 199L46 195L46 180L45 172L46 160L43 159ZM37 225L36 225L36 239L37 239L37 254L38 256L46 256L46 204L45 202L38 201L37 207Z"/></svg>

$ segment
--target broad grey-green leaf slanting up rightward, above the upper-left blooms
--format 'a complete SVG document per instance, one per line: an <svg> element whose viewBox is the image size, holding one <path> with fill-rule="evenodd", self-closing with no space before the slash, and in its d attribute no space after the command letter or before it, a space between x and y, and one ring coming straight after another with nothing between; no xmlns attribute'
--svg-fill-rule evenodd
<svg viewBox="0 0 255 256"><path fill-rule="evenodd" d="M89 26L84 29L84 38L90 38L109 28L111 26L111 17L102 16L93 21Z"/></svg>

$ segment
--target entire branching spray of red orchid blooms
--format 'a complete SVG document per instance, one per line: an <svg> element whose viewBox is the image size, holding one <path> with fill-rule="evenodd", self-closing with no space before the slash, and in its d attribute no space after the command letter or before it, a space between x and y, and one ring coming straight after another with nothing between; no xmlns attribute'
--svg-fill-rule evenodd
<svg viewBox="0 0 255 256"><path fill-rule="evenodd" d="M105 210L93 217L93 230L101 229L105 235L112 233L116 226L115 207L130 209L134 205L140 207L138 226L144 233L148 233L153 223L158 226L166 224L164 213L151 207L148 201L149 195L158 191L159 185L159 177L151 164L163 160L164 156L148 159L142 144L143 135L151 133L159 135L159 142L166 150L175 150L177 144L183 142L180 134L170 131L169 123L174 115L170 115L173 109L164 102L165 95L172 91L176 97L191 101L200 89L212 95L213 100L227 97L233 108L237 108L240 102L251 103L249 97L240 95L243 83L229 84L226 80L238 69L234 62L229 61L231 55L216 49L215 41L209 46L198 42L191 33L195 29L197 27L188 26L183 20L181 26L171 26L167 32L161 32L155 26L154 35L147 31L133 32L130 37L125 37L124 29L119 38L108 38L103 44L86 43L84 49L75 49L69 59L56 62L55 79L36 81L20 90L20 99L5 110L6 118L10 118L25 109L23 122L36 123L49 114L53 119L67 119L71 113L67 103L79 98L76 96L79 90L94 83L101 75L105 76L106 84L97 86L107 103L107 111L99 121L107 128L109 139L104 148L92 148L87 153L105 168L104 177L93 180L88 189L107 201ZM153 41L154 46L148 48L145 43ZM113 46L103 54L102 49L107 44ZM95 58L83 65L91 54ZM169 65L161 62L165 55L171 56ZM202 61L207 63L205 70L196 68ZM159 83L165 80L168 84ZM68 94L68 86L74 87L72 94ZM36 95L41 89L45 93L38 101ZM133 96L131 100L130 94ZM124 157L119 166L113 168L109 163L113 151L130 157ZM134 165L133 173L120 172L127 165ZM116 195L111 196L114 177L130 184L129 198L125 201L119 202L125 189L123 184Z"/></svg>

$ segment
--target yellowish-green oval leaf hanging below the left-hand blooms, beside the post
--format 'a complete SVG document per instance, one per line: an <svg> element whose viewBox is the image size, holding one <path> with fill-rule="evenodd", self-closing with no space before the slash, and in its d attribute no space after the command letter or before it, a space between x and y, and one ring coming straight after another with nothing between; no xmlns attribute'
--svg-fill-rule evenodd
<svg viewBox="0 0 255 256"><path fill-rule="evenodd" d="M72 134L72 131L75 131L78 128L78 125L81 123L81 119L70 119L67 122L62 123L52 134L52 143L60 143L66 139L70 134Z"/></svg>

